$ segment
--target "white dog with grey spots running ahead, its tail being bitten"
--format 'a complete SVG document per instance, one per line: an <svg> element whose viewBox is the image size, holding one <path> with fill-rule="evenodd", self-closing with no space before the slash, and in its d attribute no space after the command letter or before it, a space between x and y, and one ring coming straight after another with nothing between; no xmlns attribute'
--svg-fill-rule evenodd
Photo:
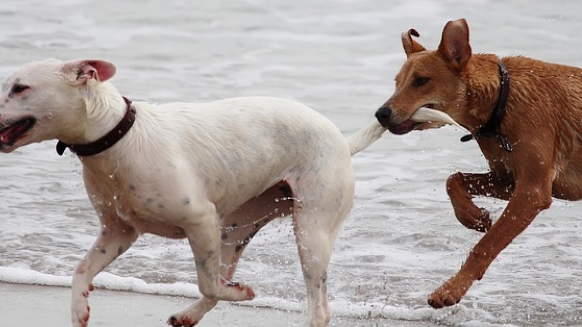
<svg viewBox="0 0 582 327"><path fill-rule="evenodd" d="M293 217L306 325L327 325L329 257L354 196L350 155L384 127L372 122L346 140L310 108L266 97L131 104L107 82L115 70L31 62L0 94L1 151L58 139L58 152L69 147L83 163L101 232L73 275L73 326L87 326L95 275L142 233L185 237L194 253L204 297L168 324L196 325L218 300L251 300L253 290L230 279L255 233L282 215Z"/></svg>

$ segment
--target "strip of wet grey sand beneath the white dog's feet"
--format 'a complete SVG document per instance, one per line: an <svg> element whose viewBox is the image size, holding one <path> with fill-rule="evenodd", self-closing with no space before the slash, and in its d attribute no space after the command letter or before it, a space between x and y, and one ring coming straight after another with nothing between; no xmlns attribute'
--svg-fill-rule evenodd
<svg viewBox="0 0 582 327"><path fill-rule="evenodd" d="M33 324L44 327L70 326L70 289L0 283L0 320L3 326ZM90 326L167 326L169 315L183 310L196 299L134 292L91 292ZM197 326L301 326L304 314L269 308L219 303ZM333 317L331 326L434 326L428 322L391 319Z"/></svg>

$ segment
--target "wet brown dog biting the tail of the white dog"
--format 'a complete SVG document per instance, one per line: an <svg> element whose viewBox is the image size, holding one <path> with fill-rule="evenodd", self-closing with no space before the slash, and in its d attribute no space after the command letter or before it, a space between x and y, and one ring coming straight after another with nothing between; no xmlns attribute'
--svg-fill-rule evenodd
<svg viewBox="0 0 582 327"><path fill-rule="evenodd" d="M446 182L457 219L487 232L459 272L428 298L454 305L480 280L495 257L548 208L552 196L582 197L582 70L524 57L471 54L464 19L448 22L436 51L402 34L406 63L396 91L376 112L394 134L438 127L418 123L419 108L446 113L471 132L491 169L455 173ZM429 110L430 111L430 110ZM493 225L473 196L509 200Z"/></svg>

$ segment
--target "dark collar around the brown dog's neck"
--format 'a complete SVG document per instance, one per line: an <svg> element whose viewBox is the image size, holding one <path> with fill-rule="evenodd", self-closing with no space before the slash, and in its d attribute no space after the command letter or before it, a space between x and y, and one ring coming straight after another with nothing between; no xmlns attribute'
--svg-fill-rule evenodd
<svg viewBox="0 0 582 327"><path fill-rule="evenodd" d="M513 148L511 143L509 143L508 137L503 133L495 131L496 129L498 129L499 125L501 125L501 121L505 116L505 109L508 104L510 86L509 85L510 78L507 67L503 65L503 62L501 62L501 60L497 62L497 65L499 66L501 88L499 89L499 98L497 99L497 105L493 110L491 118L489 118L489 121L485 123L485 125L481 126L477 133L475 133L474 135L468 134L466 136L463 136L461 138L461 141L462 142L470 141L473 138L477 138L480 136L483 137L495 136L499 140L499 143L501 143L501 147L503 148L503 150L511 152Z"/></svg>

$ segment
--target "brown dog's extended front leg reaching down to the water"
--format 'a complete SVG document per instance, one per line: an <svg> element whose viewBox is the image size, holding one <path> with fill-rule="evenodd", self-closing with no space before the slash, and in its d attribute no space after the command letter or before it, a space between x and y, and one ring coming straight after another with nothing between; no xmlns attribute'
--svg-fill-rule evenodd
<svg viewBox="0 0 582 327"><path fill-rule="evenodd" d="M531 183L516 186L501 218L471 250L460 271L428 297L431 307L442 308L458 303L473 282L482 278L495 257L527 228L540 211L549 207L551 185L545 184L544 187Z"/></svg>

